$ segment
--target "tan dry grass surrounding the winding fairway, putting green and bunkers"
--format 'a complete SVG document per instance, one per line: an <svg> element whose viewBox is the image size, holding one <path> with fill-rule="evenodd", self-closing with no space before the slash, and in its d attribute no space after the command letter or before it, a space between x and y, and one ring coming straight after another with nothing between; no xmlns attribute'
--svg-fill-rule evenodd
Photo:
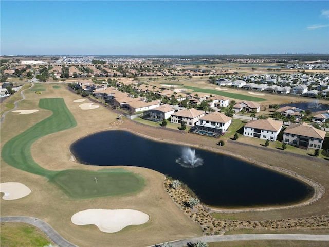
<svg viewBox="0 0 329 247"><path fill-rule="evenodd" d="M39 98L63 97L78 126L36 141L31 148L36 163L50 170L101 169L70 161L69 145L88 133L116 128L111 123L116 120L117 115L104 107L82 110L79 108L80 103L73 102L80 96L69 92L63 86L61 89L53 89L52 85L45 87L46 91L41 95L26 91L27 99L19 104L19 108L27 109L28 106L28 109L39 109ZM47 110L39 110L36 114L8 113L2 123L1 145L51 114ZM166 193L163 188L165 179L163 174L145 168L125 167L124 169L145 178L146 186L142 192L125 197L76 200L68 198L56 185L47 182L45 178L17 170L2 162L1 181L22 182L32 190L32 193L19 200L1 199L1 215L40 218L53 226L64 238L79 246L95 246L94 243L97 243L97 246L145 246L202 235L200 227L184 215ZM71 223L70 217L73 214L88 208L132 208L149 214L150 221L141 226L129 226L116 234L100 232L94 225L77 226Z"/></svg>

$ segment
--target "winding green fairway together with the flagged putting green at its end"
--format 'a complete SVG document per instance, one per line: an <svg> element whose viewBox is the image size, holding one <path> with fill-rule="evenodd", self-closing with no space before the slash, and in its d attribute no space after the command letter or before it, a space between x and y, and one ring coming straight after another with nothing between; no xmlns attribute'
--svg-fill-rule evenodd
<svg viewBox="0 0 329 247"><path fill-rule="evenodd" d="M10 139L4 145L2 157L8 165L47 177L74 198L124 195L138 191L143 187L144 181L142 178L124 170L106 169L100 172L80 170L50 171L36 164L30 149L37 139L77 125L76 120L62 98L41 99L39 107L50 110L53 114ZM94 180L95 177L97 178L97 183Z"/></svg>

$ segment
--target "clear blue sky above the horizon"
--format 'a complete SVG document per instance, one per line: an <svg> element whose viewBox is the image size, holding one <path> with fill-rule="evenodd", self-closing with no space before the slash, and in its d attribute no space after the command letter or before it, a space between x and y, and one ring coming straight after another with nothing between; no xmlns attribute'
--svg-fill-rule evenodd
<svg viewBox="0 0 329 247"><path fill-rule="evenodd" d="M2 55L329 53L329 1L4 1Z"/></svg>

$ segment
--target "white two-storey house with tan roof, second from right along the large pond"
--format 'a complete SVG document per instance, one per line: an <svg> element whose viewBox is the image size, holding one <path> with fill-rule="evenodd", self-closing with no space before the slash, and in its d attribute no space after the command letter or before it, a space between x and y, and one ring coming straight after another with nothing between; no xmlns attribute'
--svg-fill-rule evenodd
<svg viewBox="0 0 329 247"><path fill-rule="evenodd" d="M243 135L264 140L277 140L282 125L282 121L272 118L249 121L243 127Z"/></svg>

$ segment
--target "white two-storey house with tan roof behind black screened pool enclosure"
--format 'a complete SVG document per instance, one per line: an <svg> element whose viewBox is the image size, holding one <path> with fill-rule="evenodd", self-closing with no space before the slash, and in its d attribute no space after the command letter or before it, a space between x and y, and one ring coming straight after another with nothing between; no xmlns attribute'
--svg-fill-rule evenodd
<svg viewBox="0 0 329 247"><path fill-rule="evenodd" d="M201 117L196 123L196 126L220 129L222 132L226 132L231 123L231 117L227 117L220 112L212 112Z"/></svg>

